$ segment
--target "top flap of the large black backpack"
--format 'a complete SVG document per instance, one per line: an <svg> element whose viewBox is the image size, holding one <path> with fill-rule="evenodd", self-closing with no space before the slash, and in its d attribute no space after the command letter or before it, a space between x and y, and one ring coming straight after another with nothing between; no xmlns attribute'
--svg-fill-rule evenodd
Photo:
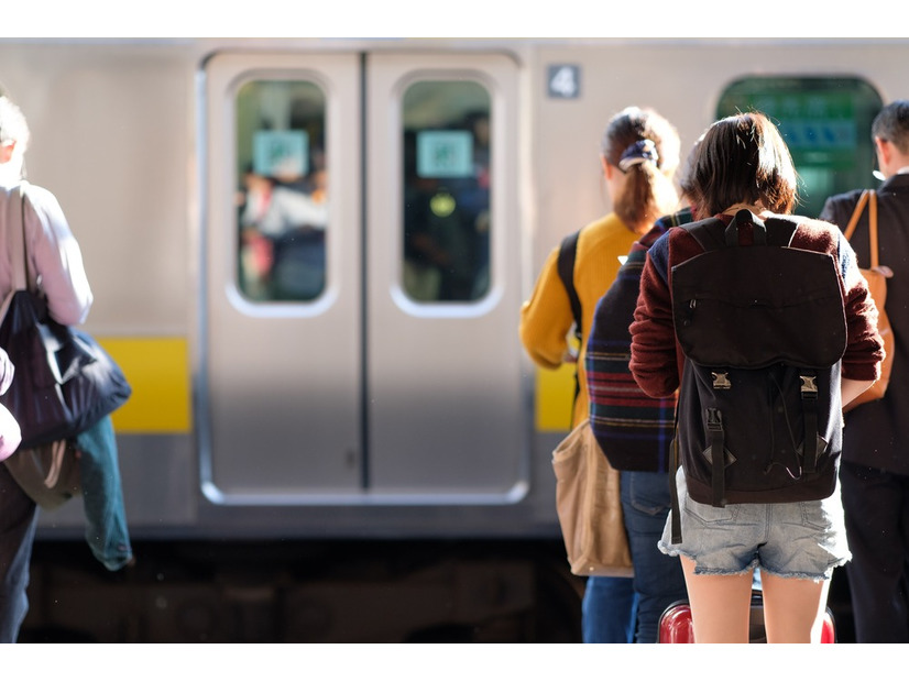
<svg viewBox="0 0 909 682"><path fill-rule="evenodd" d="M790 221L768 222L773 230L792 231ZM708 226L714 235L716 229ZM671 277L676 336L696 362L824 367L846 350L843 293L830 254L736 243L676 265Z"/></svg>

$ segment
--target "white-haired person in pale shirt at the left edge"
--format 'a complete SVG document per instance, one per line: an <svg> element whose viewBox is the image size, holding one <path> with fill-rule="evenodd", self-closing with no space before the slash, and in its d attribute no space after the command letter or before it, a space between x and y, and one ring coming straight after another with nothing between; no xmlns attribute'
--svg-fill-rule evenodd
<svg viewBox="0 0 909 682"><path fill-rule="evenodd" d="M81 252L54 195L43 187L22 184L29 141L29 125L22 111L7 97L0 97L0 300L15 288L17 275L21 276L14 270L17 264L22 267L21 254L13 256L7 251L12 242L11 231L23 230L33 275L30 286L34 287L40 279L47 310L57 322L79 324L94 301ZM109 425L108 417L105 427ZM108 435L112 439L112 427ZM116 514L122 517L122 508ZM124 518L120 520L125 525ZM0 642L17 641L29 609L25 590L36 526L37 505L7 466L0 465ZM123 549L124 553L117 558L118 568L121 561L132 558L131 550Z"/></svg>

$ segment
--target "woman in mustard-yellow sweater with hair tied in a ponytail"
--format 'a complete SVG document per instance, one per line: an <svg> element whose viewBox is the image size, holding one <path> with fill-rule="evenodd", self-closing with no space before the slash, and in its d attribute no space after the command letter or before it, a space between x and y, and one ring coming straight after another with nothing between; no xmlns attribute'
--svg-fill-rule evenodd
<svg viewBox="0 0 909 682"><path fill-rule="evenodd" d="M519 336L530 359L547 370L577 363L580 391L572 426L589 415L584 352L596 302L615 279L620 257L627 255L660 216L676 210L679 199L672 176L679 150L676 129L653 109L628 107L606 125L600 162L613 210L581 228L574 260L573 283L582 320L580 355L568 340L574 317L558 274L558 246L546 258L530 298L522 306ZM631 644L636 616L631 578L588 579L581 623L584 642Z"/></svg>

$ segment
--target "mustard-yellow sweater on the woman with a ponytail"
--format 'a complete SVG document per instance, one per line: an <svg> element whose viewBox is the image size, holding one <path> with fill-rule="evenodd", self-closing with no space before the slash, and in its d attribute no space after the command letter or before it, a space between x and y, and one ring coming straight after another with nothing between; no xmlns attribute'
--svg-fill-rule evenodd
<svg viewBox="0 0 909 682"><path fill-rule="evenodd" d="M574 405L573 426L589 414L584 355L596 302L615 279L622 263L638 239L638 234L625 227L615 213L595 220L581 229L574 260L574 288L581 300L583 329L578 378L581 392ZM521 308L521 342L530 359L547 370L556 370L565 361L568 351L568 332L574 318L568 294L559 279L559 248L556 246L539 274L534 293Z"/></svg>

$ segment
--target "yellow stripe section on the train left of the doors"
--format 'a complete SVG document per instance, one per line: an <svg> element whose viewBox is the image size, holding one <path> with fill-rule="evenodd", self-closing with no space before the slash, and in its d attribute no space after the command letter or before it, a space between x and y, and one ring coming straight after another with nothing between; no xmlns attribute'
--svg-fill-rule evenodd
<svg viewBox="0 0 909 682"><path fill-rule="evenodd" d="M191 428L189 349L180 337L98 338L123 370L132 396L113 413L120 433L188 433Z"/></svg>

